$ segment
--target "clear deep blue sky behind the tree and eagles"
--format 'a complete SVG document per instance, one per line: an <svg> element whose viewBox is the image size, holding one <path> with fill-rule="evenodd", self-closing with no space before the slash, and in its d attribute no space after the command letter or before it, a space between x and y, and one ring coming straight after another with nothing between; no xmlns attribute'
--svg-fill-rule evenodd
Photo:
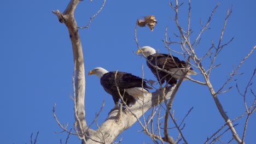
<svg viewBox="0 0 256 144"><path fill-rule="evenodd" d="M73 54L71 41L65 25L59 23L52 10L63 11L69 1L3 1L0 9L0 142L1 143L30 143L31 133L39 131L38 143L59 143L65 141L67 134L55 134L61 131L53 118L53 105L56 103L56 114L61 123L73 127L72 94ZM170 17L173 10L168 6L169 1L107 1L101 13L92 21L89 29L80 29L82 40L85 71L86 71L86 121L91 123L95 113L100 110L102 101L106 101L98 123L104 121L114 103L109 94L104 92L100 80L96 76L88 76L89 70L104 67L109 71L119 70L142 76L142 65L147 79L154 79L146 67L144 58L135 55L137 50L134 40L136 20L146 15L155 15L158 25L153 32L148 28L138 28L138 40L141 46L149 45L165 53L162 40L165 38L165 28L168 34L177 32ZM187 2L187 1L185 1ZM217 63L222 63L212 72L213 87L218 89L229 73L256 44L256 12L255 1L193 1L191 9L191 28L195 35L200 30L199 20L207 21L211 10L219 3L216 15L210 24L210 31L202 35L201 45L197 52L202 55L211 46L211 39L217 43L220 28L226 16L226 10L233 5L233 13L228 21L224 41L235 37L234 41L220 54ZM87 25L90 17L101 7L102 1L83 1L75 11L79 26ZM187 25L187 3L181 9L181 25ZM172 49L178 50L179 46ZM179 55L176 55L181 57ZM242 65L236 76L236 82L241 88L247 84L255 68L255 53ZM206 62L205 62L206 63ZM201 80L201 76L194 76ZM255 82L255 79L253 80ZM231 82L229 86L235 86ZM255 92L255 83L251 87ZM219 95L225 111L231 119L245 111L242 97L236 88ZM251 97L248 101L251 102ZM174 100L173 109L176 117L182 119L194 106L183 130L189 143L202 143L224 124L223 118L217 111L213 99L205 86L185 81ZM237 125L241 136L245 118ZM95 126L94 126L95 128ZM124 131L122 143L153 143L142 132L138 123ZM249 120L246 142L255 142L256 115ZM173 130L171 135L177 135ZM228 141L230 132L222 140ZM71 136L69 143L80 143L76 136Z"/></svg>

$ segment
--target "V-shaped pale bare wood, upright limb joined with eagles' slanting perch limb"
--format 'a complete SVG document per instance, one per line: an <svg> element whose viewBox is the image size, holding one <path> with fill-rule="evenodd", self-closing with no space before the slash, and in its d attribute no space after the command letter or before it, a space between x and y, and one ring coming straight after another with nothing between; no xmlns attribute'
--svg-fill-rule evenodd
<svg viewBox="0 0 256 144"><path fill-rule="evenodd" d="M53 11L59 18L61 23L65 23L68 28L69 37L72 43L75 73L74 73L74 97L75 97L75 128L79 134L79 138L84 143L112 143L119 134L125 129L131 127L151 107L158 105L164 98L162 91L156 91L152 95L138 101L127 112L123 113L120 121L117 121L118 111L112 111L101 126L95 131L88 128L85 121L85 73L84 73L84 58L82 44L80 41L77 22L74 19L74 10L77 7L79 0L71 0L64 13L59 10ZM166 92L166 99L171 97L175 85Z"/></svg>

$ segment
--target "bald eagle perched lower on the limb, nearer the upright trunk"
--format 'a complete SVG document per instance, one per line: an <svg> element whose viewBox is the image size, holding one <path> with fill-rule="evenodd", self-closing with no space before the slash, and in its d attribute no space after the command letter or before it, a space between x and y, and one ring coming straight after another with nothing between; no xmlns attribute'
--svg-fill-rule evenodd
<svg viewBox="0 0 256 144"><path fill-rule="evenodd" d="M120 95L123 97L126 105L130 107L135 104L136 100L143 97L144 94L149 93L148 89L152 89L141 77L129 73L121 71L108 72L106 69L97 67L89 71L89 75L92 74L101 79L101 85L107 93L112 95L115 107L118 106L118 101L121 99Z"/></svg>

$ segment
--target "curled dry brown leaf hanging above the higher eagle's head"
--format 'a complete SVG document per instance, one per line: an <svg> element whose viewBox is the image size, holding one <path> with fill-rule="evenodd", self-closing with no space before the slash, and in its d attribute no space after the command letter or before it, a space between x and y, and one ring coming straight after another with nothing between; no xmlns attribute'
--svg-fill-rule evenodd
<svg viewBox="0 0 256 144"><path fill-rule="evenodd" d="M151 31L154 30L154 26L158 23L154 15L145 16L142 19L137 20L137 25L140 27L148 26Z"/></svg>

